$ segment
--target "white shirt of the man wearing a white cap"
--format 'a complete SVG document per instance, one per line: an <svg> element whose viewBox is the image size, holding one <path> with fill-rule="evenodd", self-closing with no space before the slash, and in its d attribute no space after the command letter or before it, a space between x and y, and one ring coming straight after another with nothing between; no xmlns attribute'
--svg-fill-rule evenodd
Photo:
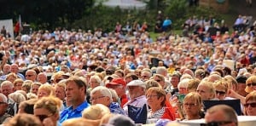
<svg viewBox="0 0 256 126"><path fill-rule="evenodd" d="M124 108L125 114L128 115L128 105L136 106L136 107L143 107L145 104L147 104L147 98L145 95L141 95L141 96L135 98L135 100L129 100L124 105L123 108Z"/></svg>

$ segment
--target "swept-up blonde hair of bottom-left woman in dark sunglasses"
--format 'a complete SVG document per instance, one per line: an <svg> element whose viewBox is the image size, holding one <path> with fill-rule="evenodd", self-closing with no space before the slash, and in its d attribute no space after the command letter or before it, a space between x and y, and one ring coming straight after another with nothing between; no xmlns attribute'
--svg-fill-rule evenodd
<svg viewBox="0 0 256 126"><path fill-rule="evenodd" d="M59 113L61 108L61 100L53 96L43 97L36 102L34 109L37 108L44 108L52 114Z"/></svg>

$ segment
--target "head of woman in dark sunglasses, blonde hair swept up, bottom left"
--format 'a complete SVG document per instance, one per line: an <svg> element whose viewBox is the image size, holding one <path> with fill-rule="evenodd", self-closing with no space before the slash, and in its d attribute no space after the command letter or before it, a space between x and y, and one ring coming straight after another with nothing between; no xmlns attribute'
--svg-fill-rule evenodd
<svg viewBox="0 0 256 126"><path fill-rule="evenodd" d="M34 116L44 125L59 126L61 100L55 97L43 97L34 106Z"/></svg>

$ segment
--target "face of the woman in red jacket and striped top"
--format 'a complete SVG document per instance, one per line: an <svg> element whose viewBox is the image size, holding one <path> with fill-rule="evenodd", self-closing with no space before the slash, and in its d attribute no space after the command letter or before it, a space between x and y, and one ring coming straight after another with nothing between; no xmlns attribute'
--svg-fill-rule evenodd
<svg viewBox="0 0 256 126"><path fill-rule="evenodd" d="M159 97L156 94L156 92L148 92L146 97L147 97L148 106L150 106L151 108L155 106L160 106L161 102L164 100L164 96Z"/></svg>

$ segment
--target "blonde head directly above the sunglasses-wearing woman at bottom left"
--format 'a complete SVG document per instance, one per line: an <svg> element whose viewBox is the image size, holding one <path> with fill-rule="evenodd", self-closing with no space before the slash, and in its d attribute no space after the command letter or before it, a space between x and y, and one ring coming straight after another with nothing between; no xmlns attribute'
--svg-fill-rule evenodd
<svg viewBox="0 0 256 126"><path fill-rule="evenodd" d="M52 87L49 84L43 84L39 87L38 89L38 99L45 97L45 96L49 96L49 95L53 95L55 96L55 89L54 87Z"/></svg>

